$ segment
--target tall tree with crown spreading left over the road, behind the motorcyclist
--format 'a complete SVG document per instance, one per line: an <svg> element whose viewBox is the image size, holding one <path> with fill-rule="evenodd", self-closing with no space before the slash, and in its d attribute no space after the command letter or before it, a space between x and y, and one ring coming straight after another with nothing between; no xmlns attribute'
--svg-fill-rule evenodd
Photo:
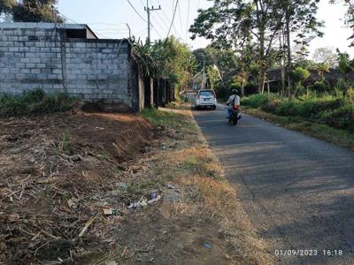
<svg viewBox="0 0 354 265"><path fill-rule="evenodd" d="M233 49L242 49L245 36L251 36L257 43L258 91L264 90L266 70L272 61L271 52L276 34L281 29L281 16L273 9L272 1L214 0L212 8L200 10L190 31L212 41L224 43Z"/></svg>

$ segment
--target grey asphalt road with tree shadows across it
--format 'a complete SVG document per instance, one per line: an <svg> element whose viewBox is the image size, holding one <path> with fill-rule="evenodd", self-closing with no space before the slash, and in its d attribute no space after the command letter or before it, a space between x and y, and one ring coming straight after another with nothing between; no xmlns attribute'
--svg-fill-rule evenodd
<svg viewBox="0 0 354 265"><path fill-rule="evenodd" d="M227 125L223 106L193 113L274 256L298 251L279 263L354 264L354 152L248 115Z"/></svg>

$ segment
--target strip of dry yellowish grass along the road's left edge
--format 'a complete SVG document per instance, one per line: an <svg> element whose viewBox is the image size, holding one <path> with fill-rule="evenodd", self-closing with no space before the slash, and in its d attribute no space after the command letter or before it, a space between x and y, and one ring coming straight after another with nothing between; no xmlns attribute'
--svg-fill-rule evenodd
<svg viewBox="0 0 354 265"><path fill-rule="evenodd" d="M183 115L184 123L188 123L184 127L188 129L180 128L180 133L188 134L184 139L187 144L166 152L158 159L158 176L182 189L183 200L174 204L174 213L204 216L209 222L216 223L219 238L233 246L232 249L225 249L225 255L233 262L273 264L265 242L258 239L241 203L237 201L235 187L225 178L218 159L208 148L191 112L187 108L179 108L182 110L171 111ZM190 128L194 133L190 134Z"/></svg>

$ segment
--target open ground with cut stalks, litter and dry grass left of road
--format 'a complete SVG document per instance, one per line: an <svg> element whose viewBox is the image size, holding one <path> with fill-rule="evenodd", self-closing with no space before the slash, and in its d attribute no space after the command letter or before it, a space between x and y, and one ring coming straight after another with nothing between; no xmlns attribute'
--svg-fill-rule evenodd
<svg viewBox="0 0 354 265"><path fill-rule="evenodd" d="M272 263L183 109L0 119L0 262Z"/></svg>

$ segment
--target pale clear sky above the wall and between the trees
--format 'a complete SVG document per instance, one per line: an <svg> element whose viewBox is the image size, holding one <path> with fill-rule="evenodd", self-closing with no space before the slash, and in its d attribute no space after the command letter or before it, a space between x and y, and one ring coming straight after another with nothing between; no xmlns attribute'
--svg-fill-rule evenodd
<svg viewBox="0 0 354 265"><path fill-rule="evenodd" d="M140 36L145 40L147 35L147 23L143 21L128 4L127 0L59 0L58 8L66 17L78 23L86 23L99 34L99 37L122 38L128 36L125 23L132 29L135 36ZM147 19L144 11L146 0L130 0L140 13L143 19ZM351 30L343 27L342 17L345 8L342 4L328 4L329 0L321 0L319 4L318 17L325 21L323 28L325 36L315 39L311 43L310 50L319 47L330 46L346 50L350 55L354 55L354 48L348 48L347 38ZM173 17L173 4L175 0L149 0L150 5L158 7L161 4L161 11L153 11L151 14L152 41L160 37L165 37L171 25ZM174 19L172 34L178 36L182 42L186 42L190 47L196 49L208 44L204 39L197 39L192 42L189 37L186 39L187 24L197 16L198 8L207 8L211 2L207 0L180 0ZM189 12L189 16L188 16ZM73 22L68 20L68 22ZM188 34L189 36L189 34Z"/></svg>

